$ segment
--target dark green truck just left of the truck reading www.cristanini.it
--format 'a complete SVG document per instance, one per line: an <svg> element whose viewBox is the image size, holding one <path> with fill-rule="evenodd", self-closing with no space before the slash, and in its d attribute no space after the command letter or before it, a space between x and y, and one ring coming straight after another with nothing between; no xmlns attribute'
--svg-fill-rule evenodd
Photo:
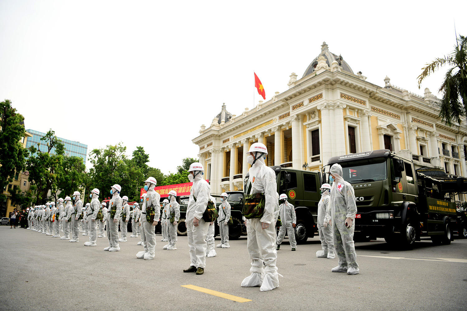
<svg viewBox="0 0 467 311"><path fill-rule="evenodd" d="M321 199L319 188L321 176L317 172L294 170L281 166L270 166L276 173L277 193L287 194L289 202L295 206L297 244L303 244L318 233L318 202ZM249 173L244 183L247 187Z"/></svg>

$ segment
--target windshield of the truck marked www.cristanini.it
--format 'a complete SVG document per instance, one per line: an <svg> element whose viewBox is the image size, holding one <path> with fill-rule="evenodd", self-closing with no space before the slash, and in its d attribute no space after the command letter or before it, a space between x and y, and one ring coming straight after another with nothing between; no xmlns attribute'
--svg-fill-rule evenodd
<svg viewBox="0 0 467 311"><path fill-rule="evenodd" d="M344 173L344 180L351 184L387 178L386 158L342 162L340 165Z"/></svg>

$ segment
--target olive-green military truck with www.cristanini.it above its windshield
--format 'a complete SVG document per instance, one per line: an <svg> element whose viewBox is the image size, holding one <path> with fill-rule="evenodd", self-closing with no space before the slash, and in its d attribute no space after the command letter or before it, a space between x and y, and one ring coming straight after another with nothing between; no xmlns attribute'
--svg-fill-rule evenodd
<svg viewBox="0 0 467 311"><path fill-rule="evenodd" d="M355 191L357 241L383 237L404 249L425 236L451 243L456 207L445 199L441 180L418 173L411 160L387 149L333 157L322 168L323 180L335 163Z"/></svg>

